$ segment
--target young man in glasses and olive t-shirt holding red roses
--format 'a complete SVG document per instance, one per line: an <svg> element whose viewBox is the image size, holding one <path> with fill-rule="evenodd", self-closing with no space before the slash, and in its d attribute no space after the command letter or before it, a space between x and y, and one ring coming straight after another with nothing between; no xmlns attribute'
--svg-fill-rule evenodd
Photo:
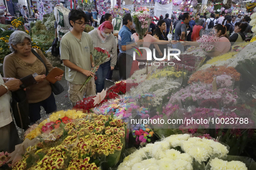
<svg viewBox="0 0 256 170"><path fill-rule="evenodd" d="M65 77L68 81L68 96L72 106L83 98L96 94L94 79L87 83L81 92L79 89L88 76L94 77L91 72L94 67L92 53L94 50L91 35L84 32L87 22L86 14L78 9L73 9L68 14L72 30L62 37L60 54L65 65Z"/></svg>

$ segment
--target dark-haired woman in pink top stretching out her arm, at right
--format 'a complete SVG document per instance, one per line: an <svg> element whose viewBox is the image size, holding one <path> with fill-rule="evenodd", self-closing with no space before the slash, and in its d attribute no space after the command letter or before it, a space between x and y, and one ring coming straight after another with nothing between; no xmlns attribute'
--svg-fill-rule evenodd
<svg viewBox="0 0 256 170"><path fill-rule="evenodd" d="M215 46L214 50L212 50L211 52L205 53L207 57L217 57L219 55L223 55L229 52L231 49L231 43L227 35L227 28L224 25L217 24L214 26L213 30L216 32L219 38L219 41L217 43L217 46ZM199 47L198 42L185 41L183 45L192 45L192 46Z"/></svg>

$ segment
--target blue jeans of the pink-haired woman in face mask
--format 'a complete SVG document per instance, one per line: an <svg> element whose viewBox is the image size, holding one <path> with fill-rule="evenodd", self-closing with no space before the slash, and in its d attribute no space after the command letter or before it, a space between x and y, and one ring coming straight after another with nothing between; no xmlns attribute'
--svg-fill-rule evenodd
<svg viewBox="0 0 256 170"><path fill-rule="evenodd" d="M109 70L110 61L107 61L106 63L101 64L98 71L96 72L97 80L95 80L95 85L97 93L100 93L104 89L105 79Z"/></svg>

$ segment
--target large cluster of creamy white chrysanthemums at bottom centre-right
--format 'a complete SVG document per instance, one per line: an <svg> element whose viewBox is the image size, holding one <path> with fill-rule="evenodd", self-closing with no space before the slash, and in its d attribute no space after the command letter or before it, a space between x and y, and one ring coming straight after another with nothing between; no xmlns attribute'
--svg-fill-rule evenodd
<svg viewBox="0 0 256 170"><path fill-rule="evenodd" d="M173 148L181 147L181 153ZM118 170L193 170L193 160L201 164L208 158L227 156L227 147L211 139L171 135L148 144L126 157Z"/></svg>

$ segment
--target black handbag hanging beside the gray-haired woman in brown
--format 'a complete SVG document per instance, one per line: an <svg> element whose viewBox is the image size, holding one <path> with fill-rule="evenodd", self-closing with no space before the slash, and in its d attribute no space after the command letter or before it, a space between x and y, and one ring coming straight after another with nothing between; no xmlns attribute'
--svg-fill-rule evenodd
<svg viewBox="0 0 256 170"><path fill-rule="evenodd" d="M29 103L26 97L26 91L19 89L17 91L11 91L11 93L11 107L16 125L21 129L26 130L30 125Z"/></svg>

